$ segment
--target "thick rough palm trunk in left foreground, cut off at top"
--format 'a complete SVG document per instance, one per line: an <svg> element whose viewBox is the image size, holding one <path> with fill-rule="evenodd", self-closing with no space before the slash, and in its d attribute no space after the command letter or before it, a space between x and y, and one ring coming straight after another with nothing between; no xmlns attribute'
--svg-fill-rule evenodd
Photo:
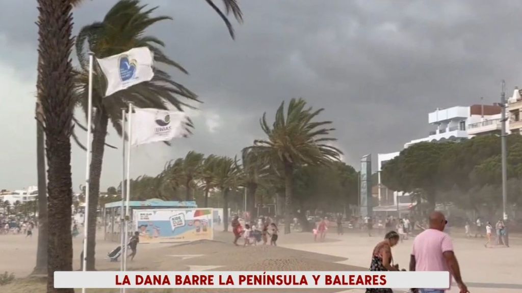
<svg viewBox="0 0 522 293"><path fill-rule="evenodd" d="M70 230L73 184L70 167L70 135L74 110L73 18L70 0L38 0L40 83L37 92L44 114L45 146L48 162L48 277L47 292L73 293L55 289L54 272L73 270L73 241Z"/></svg>

